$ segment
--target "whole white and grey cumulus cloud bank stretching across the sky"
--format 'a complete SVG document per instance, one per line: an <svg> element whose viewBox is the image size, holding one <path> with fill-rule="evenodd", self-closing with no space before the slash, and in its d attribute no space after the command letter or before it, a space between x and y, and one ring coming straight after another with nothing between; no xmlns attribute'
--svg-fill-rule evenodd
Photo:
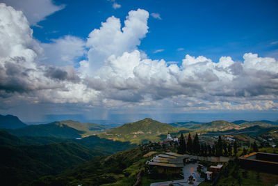
<svg viewBox="0 0 278 186"><path fill-rule="evenodd" d="M87 40L33 39L22 11L0 4L0 101L83 103L88 107L278 109L278 61L247 53L242 62L187 54L181 65L149 59L138 49L148 32L146 10L121 25L108 17ZM87 49L88 49L88 54ZM79 56L86 56L74 68Z"/></svg>

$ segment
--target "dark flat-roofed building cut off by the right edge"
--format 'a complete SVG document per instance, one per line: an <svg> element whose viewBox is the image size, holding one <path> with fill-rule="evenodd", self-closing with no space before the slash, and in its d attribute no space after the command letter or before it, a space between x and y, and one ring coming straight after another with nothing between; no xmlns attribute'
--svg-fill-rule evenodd
<svg viewBox="0 0 278 186"><path fill-rule="evenodd" d="M265 171L278 174L278 154L250 153L238 158L240 166L245 169Z"/></svg>

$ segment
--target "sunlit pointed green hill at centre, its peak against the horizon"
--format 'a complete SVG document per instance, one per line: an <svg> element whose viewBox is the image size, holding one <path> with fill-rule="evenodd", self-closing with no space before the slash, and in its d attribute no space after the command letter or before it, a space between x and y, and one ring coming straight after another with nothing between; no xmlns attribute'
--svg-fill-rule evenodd
<svg viewBox="0 0 278 186"><path fill-rule="evenodd" d="M115 127L113 130L99 134L99 137L140 144L142 141L161 141L161 134L179 132L180 130L184 129L145 118L141 121Z"/></svg>

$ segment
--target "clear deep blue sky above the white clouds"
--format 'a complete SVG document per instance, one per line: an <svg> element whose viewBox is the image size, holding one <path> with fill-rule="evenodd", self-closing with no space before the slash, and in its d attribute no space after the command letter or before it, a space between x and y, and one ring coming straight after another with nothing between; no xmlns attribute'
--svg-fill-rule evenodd
<svg viewBox="0 0 278 186"><path fill-rule="evenodd" d="M278 45L271 45L278 40L277 1L117 1L118 9L106 0L55 3L66 6L40 22L43 28L32 27L42 42L65 35L85 39L111 15L124 24L130 10L142 8L161 17L150 17L149 33L139 47L152 59L181 62L190 54L242 61L246 52L277 58ZM164 51L154 54L156 49Z"/></svg>

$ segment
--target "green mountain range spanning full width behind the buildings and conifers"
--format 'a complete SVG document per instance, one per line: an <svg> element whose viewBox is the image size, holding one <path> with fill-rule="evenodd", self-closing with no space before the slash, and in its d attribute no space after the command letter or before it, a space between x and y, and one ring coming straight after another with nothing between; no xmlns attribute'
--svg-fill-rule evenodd
<svg viewBox="0 0 278 186"><path fill-rule="evenodd" d="M236 139L246 136L248 140L278 137L277 125L268 121L166 124L145 118L112 128L70 120L25 125L16 116L7 115L1 117L1 122L1 185L92 182L100 185L117 180L122 180L118 185L132 185L145 165L137 145L163 141L168 132L172 137L181 132L201 132L208 136L232 134Z"/></svg>

